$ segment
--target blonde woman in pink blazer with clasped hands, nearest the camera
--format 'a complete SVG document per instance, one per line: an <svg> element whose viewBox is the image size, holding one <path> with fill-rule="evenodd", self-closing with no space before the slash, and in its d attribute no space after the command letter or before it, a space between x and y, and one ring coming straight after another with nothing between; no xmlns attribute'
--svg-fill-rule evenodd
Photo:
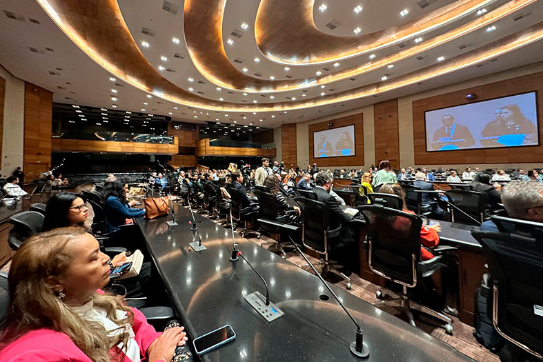
<svg viewBox="0 0 543 362"><path fill-rule="evenodd" d="M0 361L169 362L186 333L182 327L157 333L139 310L103 294L108 260L81 228L51 230L23 243L8 276Z"/></svg>

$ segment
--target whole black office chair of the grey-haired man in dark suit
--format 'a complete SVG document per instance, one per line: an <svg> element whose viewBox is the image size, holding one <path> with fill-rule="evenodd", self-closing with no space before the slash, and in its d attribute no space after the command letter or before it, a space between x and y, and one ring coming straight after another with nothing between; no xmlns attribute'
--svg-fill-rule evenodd
<svg viewBox="0 0 543 362"><path fill-rule="evenodd" d="M347 289L351 289L351 278L337 270L344 265L332 263L328 260L328 254L334 249L335 243L330 240L339 237L342 231L342 226L330 229L330 211L325 203L317 200L307 199L305 197L295 198L302 209L302 244L305 248L317 252L324 260L321 259L318 264L322 264L321 274L333 272L341 276L347 281ZM337 239L336 239L337 240ZM346 242L345 240L341 240Z"/></svg>

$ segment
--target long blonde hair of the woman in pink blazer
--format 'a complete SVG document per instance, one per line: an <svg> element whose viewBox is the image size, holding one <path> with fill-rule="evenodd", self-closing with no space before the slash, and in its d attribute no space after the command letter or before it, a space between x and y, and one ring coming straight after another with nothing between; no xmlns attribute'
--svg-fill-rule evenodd
<svg viewBox="0 0 543 362"><path fill-rule="evenodd" d="M50 277L58 279L66 274L74 258L67 246L84 234L81 228L59 228L31 237L17 250L8 276L10 304L1 326L0 348L42 328L67 334L95 362L110 362L110 349L119 343L127 345L130 336L126 327L132 325L134 314L120 296L92 294L94 305L106 310L108 319L121 325L121 333L108 336L103 325L82 319L47 283ZM127 312L127 317L118 319L116 310Z"/></svg>

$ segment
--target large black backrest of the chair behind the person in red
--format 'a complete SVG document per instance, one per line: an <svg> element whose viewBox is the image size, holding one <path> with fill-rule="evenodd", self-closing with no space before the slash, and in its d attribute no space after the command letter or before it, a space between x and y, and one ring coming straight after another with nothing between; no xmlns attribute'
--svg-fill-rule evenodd
<svg viewBox="0 0 543 362"><path fill-rule="evenodd" d="M420 261L422 219L379 204L364 205L359 210L366 219L371 270L396 283L414 287Z"/></svg>

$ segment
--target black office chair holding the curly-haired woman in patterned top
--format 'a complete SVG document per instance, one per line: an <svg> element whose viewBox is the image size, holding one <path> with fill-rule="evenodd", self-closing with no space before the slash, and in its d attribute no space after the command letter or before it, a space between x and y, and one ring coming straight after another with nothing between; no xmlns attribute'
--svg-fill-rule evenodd
<svg viewBox="0 0 543 362"><path fill-rule="evenodd" d="M258 215L259 219L275 221L277 223L290 223L290 221L296 219L296 216L298 214L296 210L287 210L282 217L279 217L279 204L277 203L277 197L275 197L274 194L270 194L269 192L263 192L256 189L254 192L260 205ZM281 242L281 229L275 228L265 223L259 223L258 228L261 233L265 232L267 234L277 234L279 238L277 239L277 241L267 241L264 243L260 243L260 246L263 246L265 244L275 244L277 245L279 252L281 252L281 256L285 258L286 253L283 248L290 246L286 243Z"/></svg>

